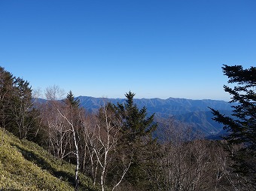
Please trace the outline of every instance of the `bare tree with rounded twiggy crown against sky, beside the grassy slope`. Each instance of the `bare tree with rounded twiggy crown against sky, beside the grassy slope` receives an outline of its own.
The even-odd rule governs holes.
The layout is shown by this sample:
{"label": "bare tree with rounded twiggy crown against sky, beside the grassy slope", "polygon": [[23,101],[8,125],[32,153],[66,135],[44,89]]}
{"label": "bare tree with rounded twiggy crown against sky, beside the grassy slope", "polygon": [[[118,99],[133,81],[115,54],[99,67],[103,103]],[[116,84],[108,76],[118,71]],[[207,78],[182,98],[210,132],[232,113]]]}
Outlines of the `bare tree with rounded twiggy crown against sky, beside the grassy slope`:
{"label": "bare tree with rounded twiggy crown against sky, beside the grassy slope", "polygon": [[[48,102],[44,112],[44,123],[47,125],[48,145],[55,156],[63,159],[71,153],[75,155],[75,190],[78,190],[78,126],[80,123],[78,116],[81,110],[78,105],[73,105],[71,100],[66,99],[63,102],[62,95],[63,91],[58,86],[46,89],[45,96]],[[74,146],[74,150],[68,150],[68,146],[69,148]]]}

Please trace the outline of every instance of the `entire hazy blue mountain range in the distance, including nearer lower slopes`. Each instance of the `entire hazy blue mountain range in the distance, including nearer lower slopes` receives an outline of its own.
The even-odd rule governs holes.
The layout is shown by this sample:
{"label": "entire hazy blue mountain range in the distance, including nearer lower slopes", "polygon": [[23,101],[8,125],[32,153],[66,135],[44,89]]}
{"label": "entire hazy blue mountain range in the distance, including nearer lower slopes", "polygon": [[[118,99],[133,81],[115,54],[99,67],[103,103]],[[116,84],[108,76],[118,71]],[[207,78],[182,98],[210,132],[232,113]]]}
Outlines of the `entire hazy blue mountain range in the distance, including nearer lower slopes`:
{"label": "entire hazy blue mountain range in the distance, including nearer lower slopes", "polygon": [[[126,99],[106,99],[79,96],[81,106],[87,111],[96,112],[106,102],[123,104]],[[148,115],[155,114],[156,118],[174,117],[183,123],[190,124],[194,129],[206,136],[216,137],[224,133],[223,126],[212,120],[212,113],[209,108],[215,108],[222,114],[230,115],[232,108],[230,103],[218,100],[203,99],[134,99],[138,108],[145,106]],[[208,108],[209,107],[209,108]]]}

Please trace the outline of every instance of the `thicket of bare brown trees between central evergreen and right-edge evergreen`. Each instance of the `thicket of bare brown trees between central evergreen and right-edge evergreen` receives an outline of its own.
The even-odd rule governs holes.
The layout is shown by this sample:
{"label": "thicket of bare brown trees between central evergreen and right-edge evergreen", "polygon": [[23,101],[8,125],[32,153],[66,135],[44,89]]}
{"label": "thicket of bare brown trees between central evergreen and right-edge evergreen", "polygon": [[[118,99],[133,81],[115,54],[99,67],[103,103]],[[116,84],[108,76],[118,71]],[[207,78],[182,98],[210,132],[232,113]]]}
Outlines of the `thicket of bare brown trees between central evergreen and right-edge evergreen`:
{"label": "thicket of bare brown trees between central evergreen and right-edge evergreen", "polygon": [[254,190],[247,180],[233,173],[229,153],[238,148],[225,141],[205,140],[173,118],[161,121],[162,154],[154,183],[158,190]]}

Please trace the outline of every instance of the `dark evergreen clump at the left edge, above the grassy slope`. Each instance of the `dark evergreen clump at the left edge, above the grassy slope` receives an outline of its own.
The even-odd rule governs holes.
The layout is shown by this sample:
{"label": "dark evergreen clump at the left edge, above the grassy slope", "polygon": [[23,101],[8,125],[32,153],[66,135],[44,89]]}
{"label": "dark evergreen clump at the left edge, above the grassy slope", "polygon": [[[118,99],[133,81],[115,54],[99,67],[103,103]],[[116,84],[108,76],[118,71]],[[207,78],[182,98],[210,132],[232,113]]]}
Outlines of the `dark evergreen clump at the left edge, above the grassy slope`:
{"label": "dark evergreen clump at the left edge, above the grassy slope", "polygon": [[20,138],[35,138],[38,111],[32,102],[32,88],[21,77],[0,67],[0,121],[2,127]]}

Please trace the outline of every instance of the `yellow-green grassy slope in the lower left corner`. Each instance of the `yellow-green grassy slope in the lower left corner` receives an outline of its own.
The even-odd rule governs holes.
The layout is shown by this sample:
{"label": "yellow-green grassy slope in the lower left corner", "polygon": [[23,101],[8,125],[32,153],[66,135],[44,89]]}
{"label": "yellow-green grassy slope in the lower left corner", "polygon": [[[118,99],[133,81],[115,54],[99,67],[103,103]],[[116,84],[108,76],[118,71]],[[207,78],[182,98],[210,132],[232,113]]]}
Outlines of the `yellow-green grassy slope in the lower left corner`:
{"label": "yellow-green grassy slope in the lower left corner", "polygon": [[[0,190],[74,190],[75,166],[0,128]],[[93,190],[80,174],[81,190]]]}

